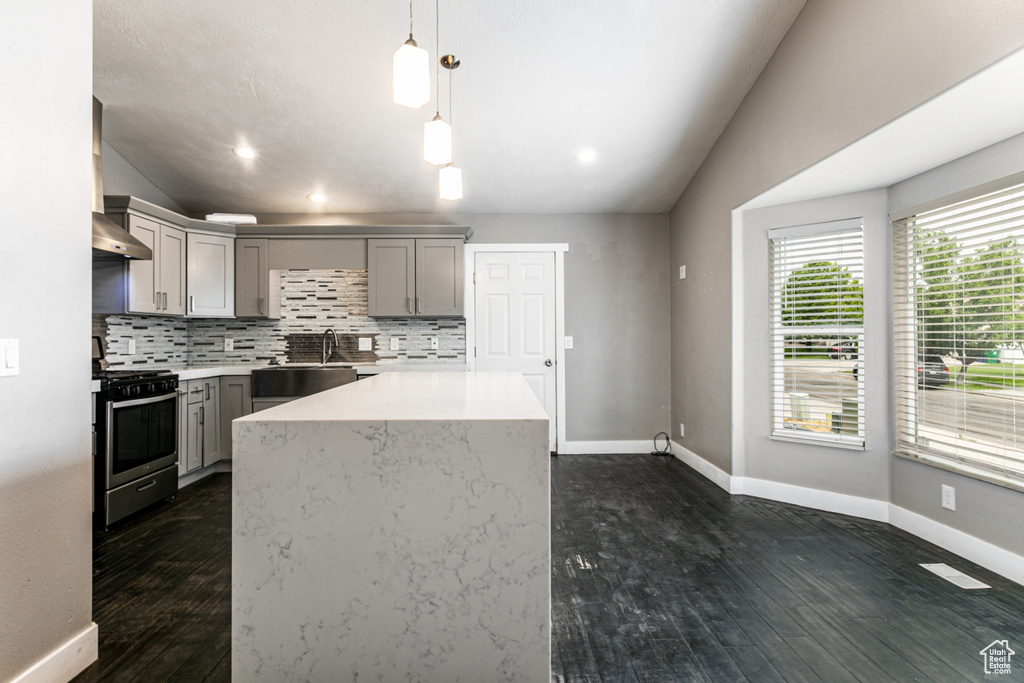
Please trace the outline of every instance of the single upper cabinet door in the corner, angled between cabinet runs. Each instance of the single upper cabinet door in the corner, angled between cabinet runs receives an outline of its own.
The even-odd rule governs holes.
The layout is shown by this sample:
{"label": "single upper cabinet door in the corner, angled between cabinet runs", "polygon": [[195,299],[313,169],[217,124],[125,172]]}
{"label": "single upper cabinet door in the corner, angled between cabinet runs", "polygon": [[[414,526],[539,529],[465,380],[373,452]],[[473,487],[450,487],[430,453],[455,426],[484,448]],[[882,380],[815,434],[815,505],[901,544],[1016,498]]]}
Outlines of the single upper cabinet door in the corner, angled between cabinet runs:
{"label": "single upper cabinet door in the corner, angled between cabinet runs", "polygon": [[186,259],[190,316],[234,315],[234,238],[189,232]]}

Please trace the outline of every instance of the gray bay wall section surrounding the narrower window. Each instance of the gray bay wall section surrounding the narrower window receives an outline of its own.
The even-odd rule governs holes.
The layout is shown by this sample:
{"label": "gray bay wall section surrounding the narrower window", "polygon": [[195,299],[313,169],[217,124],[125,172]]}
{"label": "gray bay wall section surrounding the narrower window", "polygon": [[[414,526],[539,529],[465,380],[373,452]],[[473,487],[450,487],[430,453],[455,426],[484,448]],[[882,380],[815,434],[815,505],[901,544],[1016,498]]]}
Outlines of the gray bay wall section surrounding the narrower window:
{"label": "gray bay wall section surrounding the narrower window", "polygon": [[[845,218],[864,226],[863,451],[770,438],[771,292],[768,230]],[[737,474],[848,496],[889,500],[892,451],[892,233],[886,190],[748,211],[743,215],[742,466]],[[739,460],[737,458],[737,460]]]}

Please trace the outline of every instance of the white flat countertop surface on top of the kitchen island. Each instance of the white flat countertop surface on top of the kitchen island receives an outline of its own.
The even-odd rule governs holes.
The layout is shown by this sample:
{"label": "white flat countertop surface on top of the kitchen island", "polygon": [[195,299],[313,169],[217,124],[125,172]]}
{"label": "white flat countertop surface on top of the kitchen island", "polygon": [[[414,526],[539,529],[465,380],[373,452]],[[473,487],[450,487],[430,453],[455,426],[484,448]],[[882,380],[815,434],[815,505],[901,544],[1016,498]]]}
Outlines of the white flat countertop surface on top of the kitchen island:
{"label": "white flat countertop surface on top of the kitchen island", "polygon": [[305,396],[243,422],[547,420],[519,373],[386,373]]}

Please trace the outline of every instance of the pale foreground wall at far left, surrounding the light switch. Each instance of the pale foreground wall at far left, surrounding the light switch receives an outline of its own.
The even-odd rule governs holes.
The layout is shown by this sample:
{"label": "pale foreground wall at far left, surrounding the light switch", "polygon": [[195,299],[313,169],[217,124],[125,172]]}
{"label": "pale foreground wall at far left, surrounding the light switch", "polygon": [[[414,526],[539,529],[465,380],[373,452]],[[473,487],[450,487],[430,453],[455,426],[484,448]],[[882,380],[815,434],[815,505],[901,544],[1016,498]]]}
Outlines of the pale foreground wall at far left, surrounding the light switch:
{"label": "pale foreground wall at far left, surrounding the light switch", "polygon": [[[89,404],[92,2],[0,20],[0,680],[92,622]],[[45,247],[45,255],[42,253]]]}

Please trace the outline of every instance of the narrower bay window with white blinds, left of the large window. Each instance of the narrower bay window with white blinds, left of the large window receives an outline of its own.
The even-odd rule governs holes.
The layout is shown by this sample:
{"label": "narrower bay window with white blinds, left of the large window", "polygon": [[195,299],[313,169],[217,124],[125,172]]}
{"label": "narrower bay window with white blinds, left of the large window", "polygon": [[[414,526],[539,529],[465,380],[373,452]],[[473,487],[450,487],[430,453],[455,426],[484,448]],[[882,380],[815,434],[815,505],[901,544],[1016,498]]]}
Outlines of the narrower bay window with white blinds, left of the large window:
{"label": "narrower bay window with white blinds, left of the large window", "polygon": [[769,230],[772,436],[864,447],[860,219]]}

